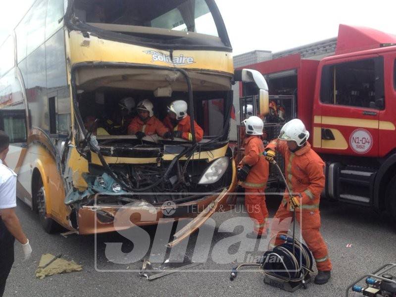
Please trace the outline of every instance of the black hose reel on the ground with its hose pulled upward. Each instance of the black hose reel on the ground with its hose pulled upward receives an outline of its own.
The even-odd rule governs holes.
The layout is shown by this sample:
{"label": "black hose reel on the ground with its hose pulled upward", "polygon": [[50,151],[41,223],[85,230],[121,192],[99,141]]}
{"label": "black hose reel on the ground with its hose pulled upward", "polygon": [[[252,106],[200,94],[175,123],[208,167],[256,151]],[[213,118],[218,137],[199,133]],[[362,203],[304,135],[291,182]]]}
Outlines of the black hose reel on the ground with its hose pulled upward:
{"label": "black hose reel on the ground with its hose pulled upward", "polygon": [[[266,155],[266,152],[263,153]],[[259,272],[264,274],[264,283],[283,289],[288,292],[294,292],[297,289],[304,287],[311,281],[310,273],[312,271],[313,258],[308,247],[295,238],[296,233],[296,208],[298,202],[293,199],[298,195],[292,195],[290,188],[286,182],[283,172],[275,160],[272,164],[278,169],[282,177],[286,189],[290,195],[291,204],[293,205],[293,234],[277,234],[270,240],[268,250],[264,253],[257,263],[242,263],[232,269],[230,280],[233,281],[238,274],[238,270],[247,266],[258,266]],[[282,241],[281,245],[273,247],[272,242]],[[268,260],[270,259],[270,260]]]}

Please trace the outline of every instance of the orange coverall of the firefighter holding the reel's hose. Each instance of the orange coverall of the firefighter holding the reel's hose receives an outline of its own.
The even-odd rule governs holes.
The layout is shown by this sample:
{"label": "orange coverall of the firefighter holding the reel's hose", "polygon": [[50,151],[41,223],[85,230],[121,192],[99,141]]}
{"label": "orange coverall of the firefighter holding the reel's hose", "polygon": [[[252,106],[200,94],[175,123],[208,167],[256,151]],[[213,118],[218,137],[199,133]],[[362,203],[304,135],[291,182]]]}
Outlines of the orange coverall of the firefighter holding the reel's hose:
{"label": "orange coverall of the firefighter holding the reel's hose", "polygon": [[[325,187],[323,173],[324,162],[311,145],[306,145],[296,152],[292,152],[285,141],[271,141],[267,148],[280,152],[285,158],[285,177],[292,193],[301,194],[300,206],[296,209],[296,218],[301,227],[302,238],[312,251],[316,267],[320,271],[330,271],[332,264],[327,251],[326,243],[320,234],[320,194]],[[283,221],[293,217],[293,208],[290,205],[290,196],[285,191],[281,205],[274,219]],[[300,221],[300,217],[302,221]],[[287,230],[280,231],[287,233]],[[280,244],[280,242],[276,242]]]}

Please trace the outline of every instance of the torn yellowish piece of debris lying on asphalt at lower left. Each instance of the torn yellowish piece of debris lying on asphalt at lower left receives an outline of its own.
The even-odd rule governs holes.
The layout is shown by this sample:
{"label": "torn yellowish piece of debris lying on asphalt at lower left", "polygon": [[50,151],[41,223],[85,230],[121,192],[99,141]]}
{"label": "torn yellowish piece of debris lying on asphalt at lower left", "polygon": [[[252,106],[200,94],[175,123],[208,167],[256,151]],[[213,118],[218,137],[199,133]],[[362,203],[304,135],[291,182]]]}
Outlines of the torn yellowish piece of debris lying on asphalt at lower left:
{"label": "torn yellowish piece of debris lying on asphalt at lower left", "polygon": [[83,266],[78,265],[74,261],[66,261],[62,258],[58,258],[47,267],[43,268],[47,263],[49,263],[55,256],[52,254],[43,254],[40,259],[39,268],[36,270],[36,277],[39,279],[44,279],[46,276],[69,273],[73,271],[83,270]]}

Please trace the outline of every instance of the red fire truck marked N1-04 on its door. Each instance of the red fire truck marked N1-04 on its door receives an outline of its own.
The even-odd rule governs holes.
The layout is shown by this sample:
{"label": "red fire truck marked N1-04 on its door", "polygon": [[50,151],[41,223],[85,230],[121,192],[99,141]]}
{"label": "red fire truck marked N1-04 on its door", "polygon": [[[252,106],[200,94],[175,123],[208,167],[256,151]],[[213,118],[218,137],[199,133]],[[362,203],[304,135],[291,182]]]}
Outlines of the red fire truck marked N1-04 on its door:
{"label": "red fire truck marked N1-04 on its door", "polygon": [[293,117],[305,123],[326,161],[323,196],[396,218],[396,36],[340,25],[334,55],[318,61],[292,54],[247,68],[268,82],[268,139]]}

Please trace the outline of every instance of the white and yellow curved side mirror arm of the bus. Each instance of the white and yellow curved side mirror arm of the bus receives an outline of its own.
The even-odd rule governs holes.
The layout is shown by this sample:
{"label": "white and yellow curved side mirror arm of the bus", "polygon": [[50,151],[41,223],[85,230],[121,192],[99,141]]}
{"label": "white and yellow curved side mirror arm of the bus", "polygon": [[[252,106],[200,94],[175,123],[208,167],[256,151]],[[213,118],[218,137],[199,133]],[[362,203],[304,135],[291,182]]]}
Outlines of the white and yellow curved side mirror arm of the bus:
{"label": "white and yellow curved side mirror arm of the bus", "polygon": [[259,108],[260,115],[267,115],[269,113],[269,95],[268,85],[264,76],[253,69],[235,70],[234,80],[243,83],[254,83],[259,89]]}

